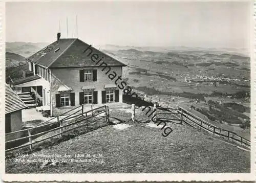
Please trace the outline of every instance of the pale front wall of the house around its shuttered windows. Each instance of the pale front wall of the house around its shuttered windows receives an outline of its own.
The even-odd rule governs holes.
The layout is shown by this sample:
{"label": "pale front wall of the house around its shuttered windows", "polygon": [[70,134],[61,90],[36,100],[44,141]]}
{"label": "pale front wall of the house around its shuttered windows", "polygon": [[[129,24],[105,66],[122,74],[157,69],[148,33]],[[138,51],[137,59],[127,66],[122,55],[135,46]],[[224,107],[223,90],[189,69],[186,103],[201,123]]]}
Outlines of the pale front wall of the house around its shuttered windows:
{"label": "pale front wall of the house around its shuttered windows", "polygon": [[[79,92],[82,92],[82,86],[94,86],[94,91],[98,91],[98,104],[101,104],[101,91],[105,90],[104,85],[105,84],[115,84],[115,80],[118,76],[122,75],[122,67],[121,66],[113,66],[111,67],[111,71],[106,75],[106,71],[108,69],[106,68],[104,71],[101,71],[103,67],[93,67],[94,70],[97,69],[97,81],[84,81],[80,82],[80,75],[79,71],[82,68],[61,68],[61,69],[51,69],[52,73],[52,115],[57,116],[62,112],[65,112],[67,109],[71,109],[74,107],[79,106]],[[90,69],[90,68],[89,68]],[[116,72],[117,76],[113,81],[108,77],[109,74],[112,72]],[[56,76],[58,79],[56,79],[54,76]],[[120,84],[120,80],[117,82]],[[67,85],[68,87],[71,87],[73,90],[71,93],[75,93],[75,106],[71,107],[58,107],[56,108],[56,99],[55,95],[59,94],[57,91],[60,85]],[[119,89],[118,87],[116,89]],[[119,89],[119,102],[122,102],[122,90]],[[90,104],[91,105],[91,104]],[[62,110],[63,109],[63,110]]]}

